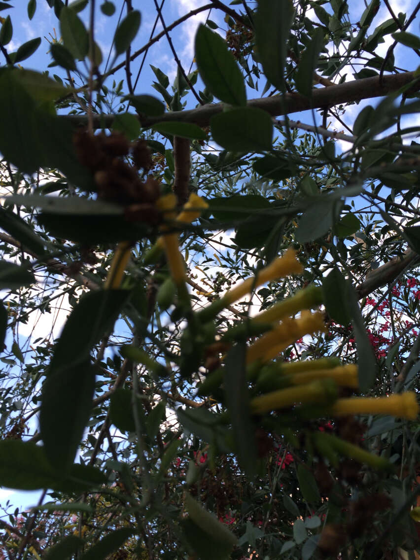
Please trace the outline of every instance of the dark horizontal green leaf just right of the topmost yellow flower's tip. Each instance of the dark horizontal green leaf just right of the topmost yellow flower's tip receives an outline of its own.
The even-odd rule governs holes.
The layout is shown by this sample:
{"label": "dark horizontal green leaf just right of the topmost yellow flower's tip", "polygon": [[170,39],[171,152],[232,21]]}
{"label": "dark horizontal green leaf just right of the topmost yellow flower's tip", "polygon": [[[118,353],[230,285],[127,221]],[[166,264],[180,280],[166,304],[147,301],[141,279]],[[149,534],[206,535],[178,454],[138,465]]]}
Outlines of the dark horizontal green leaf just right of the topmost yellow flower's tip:
{"label": "dark horizontal green leaf just right of the topmost yellow flower's tip", "polygon": [[242,222],[253,216],[258,210],[270,208],[267,198],[259,194],[234,195],[228,198],[211,198],[207,200],[209,210],[221,222]]}

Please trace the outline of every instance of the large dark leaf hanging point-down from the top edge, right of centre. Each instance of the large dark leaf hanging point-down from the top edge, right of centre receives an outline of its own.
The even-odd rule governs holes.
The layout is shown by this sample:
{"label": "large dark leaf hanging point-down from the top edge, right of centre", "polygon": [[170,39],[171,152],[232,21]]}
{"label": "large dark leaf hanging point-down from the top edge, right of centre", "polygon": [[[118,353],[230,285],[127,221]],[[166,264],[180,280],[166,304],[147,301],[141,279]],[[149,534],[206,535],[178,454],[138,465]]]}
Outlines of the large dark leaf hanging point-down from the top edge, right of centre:
{"label": "large dark leaf hanging point-down from the top edge, right of centre", "polygon": [[259,0],[255,17],[255,43],[264,74],[277,87],[284,89],[284,65],[287,41],[293,20],[291,0]]}

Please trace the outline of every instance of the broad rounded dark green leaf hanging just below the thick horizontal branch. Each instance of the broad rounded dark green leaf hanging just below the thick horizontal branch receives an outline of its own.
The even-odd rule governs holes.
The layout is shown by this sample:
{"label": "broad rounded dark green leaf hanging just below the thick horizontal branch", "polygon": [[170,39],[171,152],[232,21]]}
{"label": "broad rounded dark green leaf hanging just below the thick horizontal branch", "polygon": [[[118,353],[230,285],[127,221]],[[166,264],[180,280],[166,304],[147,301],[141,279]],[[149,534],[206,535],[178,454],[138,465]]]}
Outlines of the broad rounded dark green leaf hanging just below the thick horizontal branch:
{"label": "broad rounded dark green leaf hanging just below the thick horizontal branch", "polygon": [[264,152],[273,145],[273,122],[262,109],[232,109],[212,116],[210,126],[214,142],[232,152]]}

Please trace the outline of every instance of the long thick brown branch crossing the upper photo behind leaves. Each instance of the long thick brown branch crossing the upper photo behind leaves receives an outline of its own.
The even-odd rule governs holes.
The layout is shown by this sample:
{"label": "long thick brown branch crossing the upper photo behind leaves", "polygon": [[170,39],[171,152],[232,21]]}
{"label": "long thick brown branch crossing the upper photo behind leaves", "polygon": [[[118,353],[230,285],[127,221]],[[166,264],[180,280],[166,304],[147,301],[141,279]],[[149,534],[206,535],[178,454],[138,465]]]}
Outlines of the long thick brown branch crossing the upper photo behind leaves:
{"label": "long thick brown branch crossing the upper photo behind leaves", "polygon": [[[399,90],[400,87],[407,85],[415,79],[413,72],[403,72],[400,74],[390,74],[382,77],[380,83],[379,76],[353,80],[352,82],[340,83],[336,86],[318,87],[312,90],[312,98],[297,94],[274,95],[272,97],[259,97],[248,101],[249,107],[257,107],[267,111],[272,116],[298,113],[307,109],[319,109],[321,107],[332,107],[343,103],[361,101],[371,97],[380,97]],[[418,81],[414,86],[416,91],[419,89]],[[178,121],[184,123],[195,123],[200,127],[206,127],[213,115],[221,113],[223,104],[208,104],[190,109],[187,111],[173,111],[159,117],[148,117],[142,119],[143,127],[151,127],[157,122]],[[75,126],[86,126],[86,116],[66,115],[63,118],[70,120]],[[94,126],[96,128],[110,127],[115,115],[94,115]]]}

